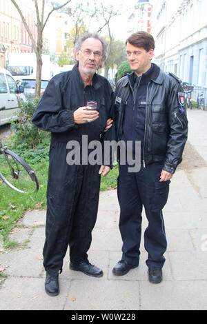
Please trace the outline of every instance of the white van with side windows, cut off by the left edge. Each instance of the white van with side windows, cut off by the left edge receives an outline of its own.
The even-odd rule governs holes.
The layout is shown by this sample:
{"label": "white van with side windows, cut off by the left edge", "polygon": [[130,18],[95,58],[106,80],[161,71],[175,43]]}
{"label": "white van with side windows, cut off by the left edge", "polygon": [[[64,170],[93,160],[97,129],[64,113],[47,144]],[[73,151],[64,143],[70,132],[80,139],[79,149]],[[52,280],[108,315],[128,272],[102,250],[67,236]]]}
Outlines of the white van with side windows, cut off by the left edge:
{"label": "white van with side windows, cut off by the left edge", "polygon": [[12,74],[0,67],[0,125],[17,120],[19,98],[26,101],[23,86],[17,86]]}

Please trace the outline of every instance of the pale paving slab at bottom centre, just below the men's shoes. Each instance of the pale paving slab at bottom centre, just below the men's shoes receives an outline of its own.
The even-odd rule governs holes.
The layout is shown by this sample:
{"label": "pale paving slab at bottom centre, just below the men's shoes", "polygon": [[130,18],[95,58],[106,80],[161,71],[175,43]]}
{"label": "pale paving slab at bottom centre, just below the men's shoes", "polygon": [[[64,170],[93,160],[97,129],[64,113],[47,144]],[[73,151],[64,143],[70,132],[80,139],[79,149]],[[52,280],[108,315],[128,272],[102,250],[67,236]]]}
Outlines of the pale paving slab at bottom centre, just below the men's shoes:
{"label": "pale paving slab at bottom centre, just below the men's shoes", "polygon": [[139,281],[74,280],[65,310],[139,310]]}

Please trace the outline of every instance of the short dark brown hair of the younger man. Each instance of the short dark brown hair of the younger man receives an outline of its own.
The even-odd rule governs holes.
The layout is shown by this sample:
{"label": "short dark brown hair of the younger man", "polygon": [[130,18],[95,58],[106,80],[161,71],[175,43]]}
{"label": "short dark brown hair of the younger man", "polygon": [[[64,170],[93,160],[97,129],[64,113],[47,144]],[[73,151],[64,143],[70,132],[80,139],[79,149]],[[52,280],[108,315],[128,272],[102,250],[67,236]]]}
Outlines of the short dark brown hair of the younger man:
{"label": "short dark brown hair of the younger man", "polygon": [[144,48],[146,52],[151,49],[155,49],[155,39],[148,32],[135,32],[131,34],[126,40],[126,44],[137,46],[137,48]]}

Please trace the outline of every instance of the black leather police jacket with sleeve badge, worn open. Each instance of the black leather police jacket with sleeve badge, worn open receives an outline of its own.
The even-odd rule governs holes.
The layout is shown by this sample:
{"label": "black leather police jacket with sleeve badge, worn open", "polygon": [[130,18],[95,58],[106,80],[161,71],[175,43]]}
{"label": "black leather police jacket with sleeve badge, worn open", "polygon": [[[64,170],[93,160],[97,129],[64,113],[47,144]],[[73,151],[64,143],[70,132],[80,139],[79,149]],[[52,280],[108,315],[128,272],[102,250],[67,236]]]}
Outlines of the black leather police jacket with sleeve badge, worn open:
{"label": "black leather police jacket with sleeve badge, worn open", "polygon": [[[125,106],[130,91],[132,74],[123,77],[115,90],[115,129],[121,140]],[[182,161],[188,136],[185,105],[180,105],[179,94],[184,90],[174,74],[160,70],[154,64],[146,94],[146,121],[144,132],[143,163],[163,162],[163,170],[174,173]]]}

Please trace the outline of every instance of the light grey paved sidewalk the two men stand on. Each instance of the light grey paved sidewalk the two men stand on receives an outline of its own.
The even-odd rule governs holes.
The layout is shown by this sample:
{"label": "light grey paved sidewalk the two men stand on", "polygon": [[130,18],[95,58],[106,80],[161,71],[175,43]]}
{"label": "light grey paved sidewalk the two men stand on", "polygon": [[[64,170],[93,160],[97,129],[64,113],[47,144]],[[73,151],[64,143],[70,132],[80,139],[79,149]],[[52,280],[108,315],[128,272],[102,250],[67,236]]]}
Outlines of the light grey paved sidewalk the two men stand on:
{"label": "light grey paved sidewalk the two men stand on", "polygon": [[59,275],[60,294],[48,296],[42,265],[46,211],[29,211],[19,221],[25,226],[10,234],[12,241],[28,241],[26,247],[0,254],[0,268],[7,276],[0,286],[0,310],[207,310],[207,112],[189,111],[188,120],[188,143],[193,156],[202,157],[195,168],[179,166],[170,184],[164,207],[164,280],[157,285],[148,281],[143,234],[139,267],[125,276],[112,274],[121,259],[121,236],[117,191],[110,190],[100,194],[88,252],[89,261],[103,269],[103,277],[69,270],[67,252]]}

